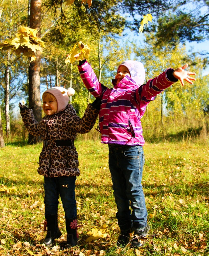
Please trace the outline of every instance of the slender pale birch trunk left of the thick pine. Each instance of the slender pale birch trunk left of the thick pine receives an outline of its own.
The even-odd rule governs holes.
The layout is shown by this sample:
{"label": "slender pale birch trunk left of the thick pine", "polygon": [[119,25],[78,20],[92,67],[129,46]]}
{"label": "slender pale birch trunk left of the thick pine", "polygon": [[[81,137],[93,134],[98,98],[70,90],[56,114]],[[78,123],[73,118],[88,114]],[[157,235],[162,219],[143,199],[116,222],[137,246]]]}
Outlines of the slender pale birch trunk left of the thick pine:
{"label": "slender pale birch trunk left of the thick pine", "polygon": [[6,116],[6,137],[10,135],[10,113],[9,113],[9,97],[10,97],[10,52],[7,52],[7,67],[5,70],[5,116]]}

